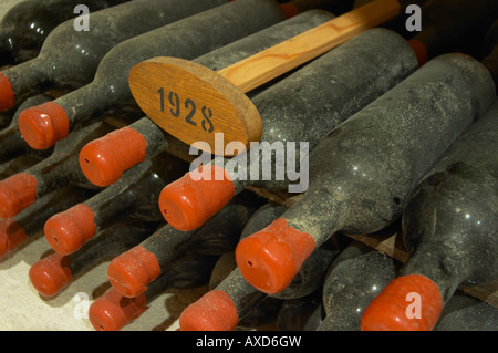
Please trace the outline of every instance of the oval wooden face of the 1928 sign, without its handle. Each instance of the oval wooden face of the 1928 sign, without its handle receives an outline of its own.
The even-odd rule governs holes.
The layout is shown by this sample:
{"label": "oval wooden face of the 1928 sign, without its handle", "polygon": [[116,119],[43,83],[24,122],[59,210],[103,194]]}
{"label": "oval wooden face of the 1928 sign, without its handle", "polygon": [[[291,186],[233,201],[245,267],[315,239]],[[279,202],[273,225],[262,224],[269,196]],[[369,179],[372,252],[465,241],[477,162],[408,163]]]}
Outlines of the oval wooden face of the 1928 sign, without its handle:
{"label": "oval wooden face of the 1928 sign, without its handle", "polygon": [[[188,145],[215,154],[215,134],[246,147],[261,138],[258,110],[247,95],[215,71],[177,58],[154,58],[129,72],[129,89],[144,113]],[[200,145],[196,142],[206,142]],[[224,153],[225,154],[225,153]]]}

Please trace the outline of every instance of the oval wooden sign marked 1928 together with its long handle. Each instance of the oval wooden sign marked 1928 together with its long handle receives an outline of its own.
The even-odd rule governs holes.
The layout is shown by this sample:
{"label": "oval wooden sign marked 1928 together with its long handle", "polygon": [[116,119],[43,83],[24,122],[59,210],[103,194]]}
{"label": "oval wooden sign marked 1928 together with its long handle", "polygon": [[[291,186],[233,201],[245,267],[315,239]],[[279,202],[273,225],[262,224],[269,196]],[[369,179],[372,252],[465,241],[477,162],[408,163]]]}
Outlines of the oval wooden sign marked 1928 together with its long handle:
{"label": "oval wooden sign marked 1928 together with its long handle", "polygon": [[[245,93],[400,11],[397,0],[375,0],[218,72],[187,60],[154,58],[132,68],[129,87],[144,113],[170,135],[205,152],[234,156],[262,134],[258,110]],[[224,136],[215,143],[217,133]],[[229,143],[242,147],[226,150]]]}

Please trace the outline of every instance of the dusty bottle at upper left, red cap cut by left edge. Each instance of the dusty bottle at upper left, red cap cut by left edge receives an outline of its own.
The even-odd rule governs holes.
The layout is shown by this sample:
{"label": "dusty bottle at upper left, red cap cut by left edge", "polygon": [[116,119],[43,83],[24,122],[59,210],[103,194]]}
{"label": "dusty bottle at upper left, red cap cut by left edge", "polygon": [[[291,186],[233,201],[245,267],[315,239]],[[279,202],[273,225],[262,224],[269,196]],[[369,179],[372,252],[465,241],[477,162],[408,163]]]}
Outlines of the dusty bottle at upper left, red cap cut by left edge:
{"label": "dusty bottle at upper left, red cap cut by left edge", "polygon": [[84,85],[116,44],[224,2],[134,0],[90,13],[89,31],[76,31],[73,21],[65,21],[50,33],[37,58],[0,73],[0,111],[49,87]]}

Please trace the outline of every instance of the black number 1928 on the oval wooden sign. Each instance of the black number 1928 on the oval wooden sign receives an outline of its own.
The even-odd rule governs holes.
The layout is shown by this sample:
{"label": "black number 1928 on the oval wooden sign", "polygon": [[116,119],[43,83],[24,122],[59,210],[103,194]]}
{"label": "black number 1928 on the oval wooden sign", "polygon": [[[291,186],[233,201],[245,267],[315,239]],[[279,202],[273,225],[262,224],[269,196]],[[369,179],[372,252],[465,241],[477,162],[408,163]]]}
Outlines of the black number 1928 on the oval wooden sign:
{"label": "black number 1928 on the oval wooden sign", "polygon": [[[157,90],[157,92],[159,93],[160,112],[164,113],[164,111],[166,110],[164,89],[160,87],[159,90]],[[169,101],[169,105],[170,105],[169,113],[172,113],[172,115],[174,117],[179,117],[180,116],[180,98],[179,98],[178,94],[176,94],[176,92],[173,92],[173,91],[169,92],[168,101]],[[185,100],[185,108],[188,111],[188,114],[185,116],[185,122],[193,126],[197,126],[197,123],[194,121],[194,116],[197,112],[196,103],[193,100],[187,98],[187,100]],[[212,131],[215,129],[215,127],[212,126],[212,122],[211,122],[212,111],[206,106],[203,106],[203,108],[200,111],[203,113],[203,121],[200,124],[203,129],[205,132],[212,133]]]}

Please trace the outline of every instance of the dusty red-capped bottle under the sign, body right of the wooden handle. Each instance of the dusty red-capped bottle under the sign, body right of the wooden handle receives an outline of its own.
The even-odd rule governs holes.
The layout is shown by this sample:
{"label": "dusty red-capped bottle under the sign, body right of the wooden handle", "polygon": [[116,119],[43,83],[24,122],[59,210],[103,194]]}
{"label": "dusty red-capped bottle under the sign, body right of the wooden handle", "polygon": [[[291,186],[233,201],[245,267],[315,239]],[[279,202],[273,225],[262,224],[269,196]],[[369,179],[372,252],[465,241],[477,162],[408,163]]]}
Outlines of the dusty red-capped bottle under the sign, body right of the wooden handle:
{"label": "dusty red-capped bottle under the sign, body right of the wooden handle", "polygon": [[[415,53],[401,35],[373,29],[298,70],[252,100],[263,122],[263,144],[230,159],[218,157],[167,185],[159,198],[165,219],[177,229],[195,229],[247,186],[289,188],[289,177],[295,177],[294,180],[300,177],[298,169],[294,176],[288,173],[286,177],[282,175],[286,165],[277,165],[277,160],[284,164],[287,158],[294,158],[295,165],[300,165],[301,154],[305,156],[305,149],[313,149],[325,132],[416,68]],[[302,152],[291,145],[294,146],[291,152],[286,150],[283,142],[307,142],[307,145],[299,147]],[[268,144],[272,144],[272,149],[278,147],[279,158],[273,150],[263,149]],[[307,166],[301,166],[302,169]],[[303,191],[307,183],[301,179],[289,191]]]}

